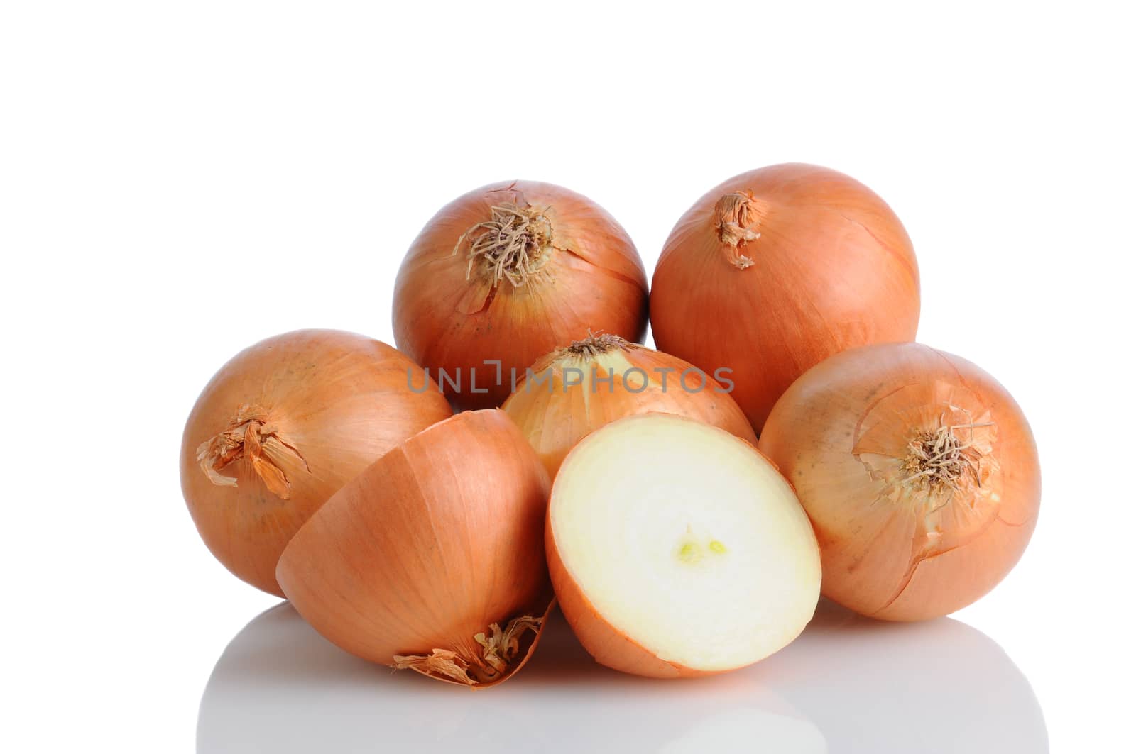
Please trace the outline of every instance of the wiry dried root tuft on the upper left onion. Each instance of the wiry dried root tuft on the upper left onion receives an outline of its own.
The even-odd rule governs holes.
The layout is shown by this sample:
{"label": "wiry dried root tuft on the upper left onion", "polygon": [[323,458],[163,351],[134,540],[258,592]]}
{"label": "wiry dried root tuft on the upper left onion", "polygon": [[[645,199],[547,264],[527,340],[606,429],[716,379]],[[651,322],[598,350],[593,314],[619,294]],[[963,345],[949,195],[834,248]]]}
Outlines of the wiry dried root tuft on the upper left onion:
{"label": "wiry dried root tuft on the upper left onion", "polygon": [[466,279],[475,269],[494,287],[502,280],[520,287],[541,279],[554,250],[546,211],[518,204],[492,207],[491,219],[462,233],[453,246],[453,254],[467,250]]}

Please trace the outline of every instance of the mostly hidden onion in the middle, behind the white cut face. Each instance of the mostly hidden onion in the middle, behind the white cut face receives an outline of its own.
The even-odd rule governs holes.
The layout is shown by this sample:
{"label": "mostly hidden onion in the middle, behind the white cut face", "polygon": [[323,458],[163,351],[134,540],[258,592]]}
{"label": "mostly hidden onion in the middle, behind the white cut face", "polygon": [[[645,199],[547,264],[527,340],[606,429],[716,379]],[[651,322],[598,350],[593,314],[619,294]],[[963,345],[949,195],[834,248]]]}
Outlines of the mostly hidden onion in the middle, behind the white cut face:
{"label": "mostly hidden onion in the middle, behind the white cut face", "polygon": [[712,376],[618,335],[588,335],[548,354],[502,409],[552,477],[585,435],[636,413],[677,413],[758,442],[727,387]]}

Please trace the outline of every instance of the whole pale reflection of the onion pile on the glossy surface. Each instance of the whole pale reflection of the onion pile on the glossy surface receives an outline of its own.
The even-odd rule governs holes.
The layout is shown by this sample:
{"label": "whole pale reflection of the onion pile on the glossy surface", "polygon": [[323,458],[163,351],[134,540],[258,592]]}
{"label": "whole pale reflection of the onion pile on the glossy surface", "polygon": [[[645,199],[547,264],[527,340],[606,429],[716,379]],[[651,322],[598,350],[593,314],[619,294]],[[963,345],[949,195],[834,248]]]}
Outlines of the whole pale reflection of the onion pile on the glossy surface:
{"label": "whole pale reflection of the onion pile on the glossy surface", "polygon": [[882,623],[821,603],[752,668],[658,681],[596,665],[556,615],[532,662],[470,692],[358,660],[282,604],[225,650],[198,751],[1046,752],[1029,682],[951,619]]}

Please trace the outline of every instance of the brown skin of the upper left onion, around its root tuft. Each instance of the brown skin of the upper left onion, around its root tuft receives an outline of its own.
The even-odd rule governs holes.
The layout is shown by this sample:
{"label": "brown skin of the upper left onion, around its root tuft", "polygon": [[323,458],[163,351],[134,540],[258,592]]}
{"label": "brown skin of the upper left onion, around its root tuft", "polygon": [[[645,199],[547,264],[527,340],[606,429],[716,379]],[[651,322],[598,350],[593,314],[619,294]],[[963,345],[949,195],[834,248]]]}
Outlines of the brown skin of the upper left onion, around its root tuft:
{"label": "brown skin of the upper left onion, around its root tuft", "polygon": [[[494,207],[535,213],[535,234],[551,228],[549,243],[537,244],[544,251],[531,254],[538,257],[540,269],[523,275],[525,283],[515,285],[516,276],[496,279],[483,257],[468,258]],[[394,338],[454,405],[491,408],[511,392],[512,370],[524,376],[538,358],[590,330],[642,341],[646,308],[643,262],[615,218],[553,184],[502,182],[446,204],[411,244],[394,286]],[[498,368],[486,360],[501,361],[500,384]],[[438,369],[451,378],[461,375],[460,392]]]}

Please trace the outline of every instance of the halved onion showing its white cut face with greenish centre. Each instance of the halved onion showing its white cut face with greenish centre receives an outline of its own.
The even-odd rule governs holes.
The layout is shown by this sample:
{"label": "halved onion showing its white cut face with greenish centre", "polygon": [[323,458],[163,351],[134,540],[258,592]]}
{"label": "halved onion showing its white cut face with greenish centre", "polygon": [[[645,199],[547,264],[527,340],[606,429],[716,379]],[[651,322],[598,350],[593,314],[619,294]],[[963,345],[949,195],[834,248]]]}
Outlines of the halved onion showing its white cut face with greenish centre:
{"label": "halved onion showing its white cut face with greenish centre", "polygon": [[757,662],[801,632],[820,593],[812,528],[777,469],[675,416],[621,419],[568,454],[545,547],[580,643],[640,676]]}

